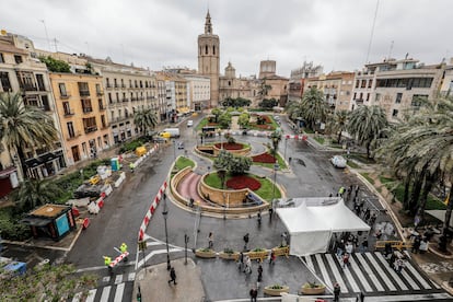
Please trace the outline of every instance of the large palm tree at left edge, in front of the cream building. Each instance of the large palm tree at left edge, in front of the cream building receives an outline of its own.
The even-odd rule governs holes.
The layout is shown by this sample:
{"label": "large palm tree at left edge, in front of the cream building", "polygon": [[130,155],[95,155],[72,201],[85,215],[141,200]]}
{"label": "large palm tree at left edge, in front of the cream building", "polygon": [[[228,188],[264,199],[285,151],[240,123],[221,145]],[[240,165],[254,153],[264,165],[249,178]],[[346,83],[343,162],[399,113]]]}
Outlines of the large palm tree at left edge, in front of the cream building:
{"label": "large palm tree at left edge, in front of the cream building", "polygon": [[10,155],[18,154],[24,175],[25,150],[47,149],[57,140],[57,129],[50,116],[37,107],[25,106],[20,93],[0,95],[0,140]]}

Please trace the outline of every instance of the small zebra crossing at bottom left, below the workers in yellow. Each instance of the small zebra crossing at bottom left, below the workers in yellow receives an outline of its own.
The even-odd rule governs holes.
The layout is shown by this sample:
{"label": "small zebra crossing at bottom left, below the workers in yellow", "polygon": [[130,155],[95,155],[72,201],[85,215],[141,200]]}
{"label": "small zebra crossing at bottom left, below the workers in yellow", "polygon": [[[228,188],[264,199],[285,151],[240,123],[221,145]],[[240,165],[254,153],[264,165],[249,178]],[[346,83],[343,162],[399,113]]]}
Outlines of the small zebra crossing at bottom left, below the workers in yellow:
{"label": "small zebra crossing at bottom left, below the workers in yellow", "polygon": [[[82,293],[78,292],[72,302],[123,302],[130,301],[133,290],[136,272],[104,276],[98,281],[98,288],[91,289],[85,300],[81,299]],[[129,294],[128,294],[129,293]]]}

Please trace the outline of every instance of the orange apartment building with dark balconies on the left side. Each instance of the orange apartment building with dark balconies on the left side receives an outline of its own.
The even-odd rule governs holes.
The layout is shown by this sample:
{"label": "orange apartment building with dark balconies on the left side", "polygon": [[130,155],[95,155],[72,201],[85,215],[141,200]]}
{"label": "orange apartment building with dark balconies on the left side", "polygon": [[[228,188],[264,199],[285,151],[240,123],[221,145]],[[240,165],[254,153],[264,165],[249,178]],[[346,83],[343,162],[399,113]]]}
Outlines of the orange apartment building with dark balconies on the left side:
{"label": "orange apartment building with dark balconies on the left side", "polygon": [[50,73],[68,165],[96,158],[112,146],[100,76]]}

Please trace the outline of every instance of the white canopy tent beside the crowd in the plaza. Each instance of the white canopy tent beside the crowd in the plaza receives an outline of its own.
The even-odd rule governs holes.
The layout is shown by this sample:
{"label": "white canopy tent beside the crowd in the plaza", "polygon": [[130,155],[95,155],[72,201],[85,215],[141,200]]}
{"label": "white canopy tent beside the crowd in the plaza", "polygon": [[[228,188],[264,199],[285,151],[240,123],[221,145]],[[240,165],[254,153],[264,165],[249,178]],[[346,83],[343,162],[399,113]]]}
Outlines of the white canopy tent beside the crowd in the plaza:
{"label": "white canopy tent beside the crowd in the plaza", "polygon": [[349,210],[342,199],[332,199],[313,202],[313,198],[306,198],[299,207],[277,209],[291,235],[291,255],[326,253],[333,233],[370,231],[370,225]]}

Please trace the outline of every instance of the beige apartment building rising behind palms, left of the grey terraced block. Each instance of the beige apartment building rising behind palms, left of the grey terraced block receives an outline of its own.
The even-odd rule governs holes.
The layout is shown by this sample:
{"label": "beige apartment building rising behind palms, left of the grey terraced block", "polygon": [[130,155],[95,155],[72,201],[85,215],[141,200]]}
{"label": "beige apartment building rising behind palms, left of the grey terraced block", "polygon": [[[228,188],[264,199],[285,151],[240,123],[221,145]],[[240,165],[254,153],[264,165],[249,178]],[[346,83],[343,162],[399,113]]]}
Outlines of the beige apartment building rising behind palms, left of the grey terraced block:
{"label": "beige apartment building rising behind palms, left of the grey terraced block", "polygon": [[324,97],[333,112],[348,111],[353,86],[353,72],[333,71],[314,78],[304,79],[304,91],[316,88],[324,93]]}

